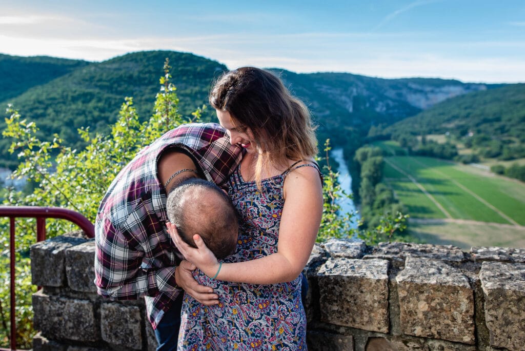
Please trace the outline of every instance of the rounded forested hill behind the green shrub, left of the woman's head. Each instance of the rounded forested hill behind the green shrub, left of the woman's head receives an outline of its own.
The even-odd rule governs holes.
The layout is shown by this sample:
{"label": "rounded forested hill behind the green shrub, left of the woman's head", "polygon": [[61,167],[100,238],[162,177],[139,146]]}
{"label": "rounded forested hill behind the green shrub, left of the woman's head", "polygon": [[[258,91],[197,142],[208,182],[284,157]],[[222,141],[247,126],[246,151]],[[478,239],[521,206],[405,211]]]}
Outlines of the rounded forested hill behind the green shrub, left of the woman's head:
{"label": "rounded forested hill behind the green shrub, left of the woman's head", "polygon": [[[216,61],[175,51],[145,51],[91,63],[45,85],[31,87],[17,97],[0,101],[0,106],[14,104],[24,118],[36,121],[44,138],[57,132],[67,144],[80,147],[82,141],[77,129],[89,126],[91,130],[107,131],[108,125],[117,120],[125,97],[133,97],[142,120],[151,116],[166,57],[172,66],[180,110],[190,116],[198,106],[206,103],[213,77],[226,67]],[[3,118],[0,128],[4,128]],[[16,160],[7,154],[8,144],[8,140],[0,140],[3,152],[0,159],[10,158],[12,162],[5,166],[12,167]]]}

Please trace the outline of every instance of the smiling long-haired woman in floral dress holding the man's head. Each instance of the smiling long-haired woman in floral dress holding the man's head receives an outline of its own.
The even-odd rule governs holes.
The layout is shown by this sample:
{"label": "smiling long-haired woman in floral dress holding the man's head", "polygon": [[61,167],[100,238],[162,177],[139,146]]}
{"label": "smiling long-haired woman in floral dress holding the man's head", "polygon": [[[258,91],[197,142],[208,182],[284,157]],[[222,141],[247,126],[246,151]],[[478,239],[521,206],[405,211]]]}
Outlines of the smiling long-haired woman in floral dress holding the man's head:
{"label": "smiling long-haired woman in floral dress holding the man's head", "polygon": [[186,295],[178,349],[306,349],[301,271],[321,222],[322,181],[308,109],[268,71],[224,74],[209,101],[230,143],[246,150],[229,179],[239,215],[236,253],[218,262],[169,232],[195,277],[218,295],[206,306]]}

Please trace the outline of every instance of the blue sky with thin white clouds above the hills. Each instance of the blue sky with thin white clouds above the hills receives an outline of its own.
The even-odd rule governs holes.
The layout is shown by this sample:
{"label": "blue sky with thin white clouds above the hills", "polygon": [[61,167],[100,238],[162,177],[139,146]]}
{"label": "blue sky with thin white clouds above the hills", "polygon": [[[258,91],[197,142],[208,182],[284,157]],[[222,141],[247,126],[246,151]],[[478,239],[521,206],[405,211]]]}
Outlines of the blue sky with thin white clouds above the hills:
{"label": "blue sky with thin white clouds above the hills", "polygon": [[228,68],[525,82],[524,0],[5,1],[0,53],[194,53]]}

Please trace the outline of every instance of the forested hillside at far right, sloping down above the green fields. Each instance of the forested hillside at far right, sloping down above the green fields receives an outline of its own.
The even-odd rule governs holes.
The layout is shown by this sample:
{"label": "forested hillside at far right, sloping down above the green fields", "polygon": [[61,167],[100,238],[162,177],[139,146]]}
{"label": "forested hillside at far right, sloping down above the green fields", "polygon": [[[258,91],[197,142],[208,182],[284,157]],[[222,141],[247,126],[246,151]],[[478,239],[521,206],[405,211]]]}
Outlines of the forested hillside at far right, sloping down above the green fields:
{"label": "forested hillside at far right, sloping down above the green fields", "polygon": [[482,157],[525,157],[525,84],[471,92],[445,100],[385,129],[403,134],[456,137]]}

